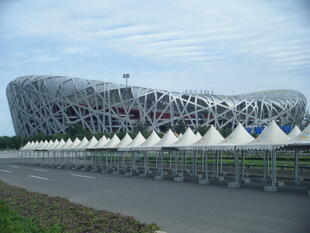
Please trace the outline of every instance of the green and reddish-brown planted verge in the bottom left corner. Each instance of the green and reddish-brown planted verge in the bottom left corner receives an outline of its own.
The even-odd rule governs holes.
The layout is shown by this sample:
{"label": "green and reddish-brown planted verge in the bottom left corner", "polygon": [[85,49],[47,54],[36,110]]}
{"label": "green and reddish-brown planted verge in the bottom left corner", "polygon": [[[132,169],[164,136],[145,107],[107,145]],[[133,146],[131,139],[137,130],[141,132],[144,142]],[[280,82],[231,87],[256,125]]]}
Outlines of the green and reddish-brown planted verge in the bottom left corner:
{"label": "green and reddish-brown planted verge in the bottom left corner", "polygon": [[0,181],[0,232],[154,232],[155,224],[29,192]]}

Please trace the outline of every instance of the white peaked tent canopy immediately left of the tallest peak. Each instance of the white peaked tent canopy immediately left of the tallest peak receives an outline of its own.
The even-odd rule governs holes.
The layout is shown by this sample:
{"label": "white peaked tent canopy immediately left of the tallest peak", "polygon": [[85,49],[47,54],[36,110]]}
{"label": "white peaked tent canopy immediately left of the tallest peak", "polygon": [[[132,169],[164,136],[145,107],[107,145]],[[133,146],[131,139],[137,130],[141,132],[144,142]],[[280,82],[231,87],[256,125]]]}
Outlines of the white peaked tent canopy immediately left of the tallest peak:
{"label": "white peaked tent canopy immediately left of the tallest peak", "polygon": [[209,146],[207,150],[233,150],[238,145],[244,145],[252,142],[254,137],[252,137],[248,131],[242,126],[241,123],[225,138],[222,142]]}

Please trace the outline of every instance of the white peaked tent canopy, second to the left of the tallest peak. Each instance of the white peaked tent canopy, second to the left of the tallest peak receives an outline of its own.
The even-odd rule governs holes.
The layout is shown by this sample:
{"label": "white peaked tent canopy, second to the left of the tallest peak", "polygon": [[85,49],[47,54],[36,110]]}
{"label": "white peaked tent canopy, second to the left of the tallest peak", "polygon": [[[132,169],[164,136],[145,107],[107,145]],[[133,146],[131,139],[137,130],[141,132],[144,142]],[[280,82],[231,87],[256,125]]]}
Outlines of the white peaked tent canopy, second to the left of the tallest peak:
{"label": "white peaked tent canopy, second to the left of the tallest peak", "polygon": [[203,137],[196,143],[187,146],[186,149],[202,149],[206,146],[216,145],[224,140],[224,137],[220,132],[213,126],[203,135]]}

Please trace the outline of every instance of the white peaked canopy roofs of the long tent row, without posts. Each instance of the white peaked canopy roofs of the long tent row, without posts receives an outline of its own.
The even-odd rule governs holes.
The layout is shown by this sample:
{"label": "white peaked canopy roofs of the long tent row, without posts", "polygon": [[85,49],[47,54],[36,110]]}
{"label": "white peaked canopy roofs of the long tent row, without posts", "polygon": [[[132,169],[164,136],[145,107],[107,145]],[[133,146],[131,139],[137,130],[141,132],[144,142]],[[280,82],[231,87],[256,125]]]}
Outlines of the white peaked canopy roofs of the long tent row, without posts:
{"label": "white peaked canopy roofs of the long tent row, without posts", "polygon": [[169,129],[160,138],[155,131],[145,139],[139,132],[132,139],[126,133],[120,140],[116,134],[109,139],[103,136],[99,141],[92,137],[91,140],[76,138],[74,141],[68,139],[66,142],[41,141],[28,142],[21,151],[85,151],[85,150],[118,150],[118,151],[159,151],[159,150],[272,150],[289,145],[310,145],[310,124],[301,132],[298,126],[287,135],[275,121],[272,121],[263,132],[254,138],[239,123],[232,133],[224,138],[220,132],[211,126],[209,130],[201,136],[187,128],[184,135],[178,137]]}

